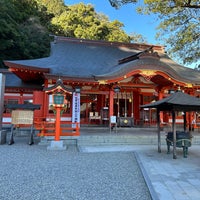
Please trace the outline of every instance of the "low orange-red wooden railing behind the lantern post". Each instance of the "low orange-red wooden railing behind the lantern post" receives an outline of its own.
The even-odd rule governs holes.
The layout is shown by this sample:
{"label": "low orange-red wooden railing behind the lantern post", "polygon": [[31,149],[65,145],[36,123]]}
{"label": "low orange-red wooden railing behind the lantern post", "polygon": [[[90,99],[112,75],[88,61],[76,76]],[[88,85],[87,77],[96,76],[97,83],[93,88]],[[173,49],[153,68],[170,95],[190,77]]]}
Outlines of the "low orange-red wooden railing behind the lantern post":
{"label": "low orange-red wooden railing behind the lantern post", "polygon": [[[44,121],[42,119],[34,120],[34,127],[39,130],[38,136],[55,136],[55,121]],[[61,121],[60,136],[79,136],[80,123],[63,122]]]}

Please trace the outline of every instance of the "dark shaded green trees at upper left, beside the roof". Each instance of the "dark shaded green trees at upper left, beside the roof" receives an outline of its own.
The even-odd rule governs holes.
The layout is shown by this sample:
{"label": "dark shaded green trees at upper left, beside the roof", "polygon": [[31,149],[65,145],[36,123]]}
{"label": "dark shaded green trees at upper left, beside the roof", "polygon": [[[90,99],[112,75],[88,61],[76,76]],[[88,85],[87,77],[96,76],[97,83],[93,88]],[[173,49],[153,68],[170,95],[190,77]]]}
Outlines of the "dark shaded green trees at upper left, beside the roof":
{"label": "dark shaded green trees at upper left, beside the roof", "polygon": [[32,0],[0,0],[0,60],[30,59],[49,53],[48,31]]}

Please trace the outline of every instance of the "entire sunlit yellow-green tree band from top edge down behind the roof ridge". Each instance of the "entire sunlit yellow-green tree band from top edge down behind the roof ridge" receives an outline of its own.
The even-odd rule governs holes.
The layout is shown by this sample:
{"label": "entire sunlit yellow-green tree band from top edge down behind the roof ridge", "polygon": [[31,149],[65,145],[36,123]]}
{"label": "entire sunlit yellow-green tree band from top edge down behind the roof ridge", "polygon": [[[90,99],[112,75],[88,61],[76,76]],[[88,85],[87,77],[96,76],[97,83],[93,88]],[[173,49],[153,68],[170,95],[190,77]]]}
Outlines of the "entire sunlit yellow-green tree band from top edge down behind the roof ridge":
{"label": "entire sunlit yellow-green tree band from top edge down behind the roof ridge", "polygon": [[94,7],[83,3],[67,6],[63,0],[37,0],[40,10],[53,15],[48,30],[55,35],[118,42],[144,41],[141,35],[128,36],[123,23],[96,13]]}

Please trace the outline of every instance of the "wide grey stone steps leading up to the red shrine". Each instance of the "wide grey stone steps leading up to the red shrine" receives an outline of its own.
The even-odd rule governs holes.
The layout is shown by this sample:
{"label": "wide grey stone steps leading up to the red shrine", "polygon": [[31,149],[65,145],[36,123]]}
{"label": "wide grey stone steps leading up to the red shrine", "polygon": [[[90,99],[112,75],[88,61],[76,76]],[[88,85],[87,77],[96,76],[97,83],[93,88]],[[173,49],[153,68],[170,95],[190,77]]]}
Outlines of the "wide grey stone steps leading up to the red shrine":
{"label": "wide grey stone steps leading up to the red shrine", "polygon": [[[166,132],[161,131],[161,145],[166,145]],[[192,144],[200,144],[200,133],[192,133]],[[44,137],[40,144],[48,143],[54,137]],[[83,127],[80,136],[61,136],[66,145],[113,146],[113,145],[157,145],[156,128],[118,128],[110,131],[108,127]]]}

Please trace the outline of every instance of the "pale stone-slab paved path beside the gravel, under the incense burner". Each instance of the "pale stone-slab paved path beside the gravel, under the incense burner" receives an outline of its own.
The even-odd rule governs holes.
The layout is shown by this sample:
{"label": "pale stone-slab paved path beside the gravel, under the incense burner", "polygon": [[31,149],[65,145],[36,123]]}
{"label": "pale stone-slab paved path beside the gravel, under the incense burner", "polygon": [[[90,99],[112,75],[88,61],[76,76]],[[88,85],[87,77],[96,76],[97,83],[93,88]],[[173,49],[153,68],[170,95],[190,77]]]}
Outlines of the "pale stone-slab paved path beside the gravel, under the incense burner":
{"label": "pale stone-slab paved path beside the gravel, under the incense burner", "polygon": [[156,145],[82,147],[83,151],[135,151],[159,200],[200,200],[200,146],[189,148],[187,158],[177,149],[177,159],[167,154],[166,146]]}

